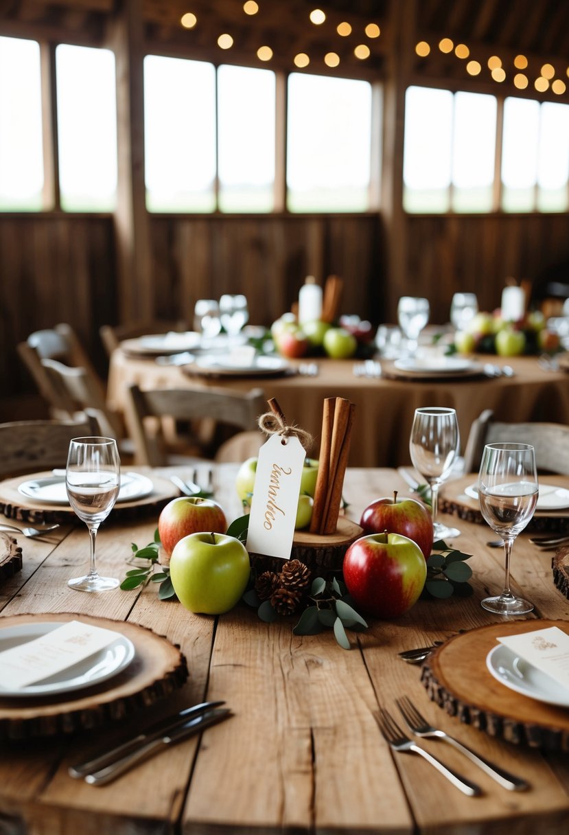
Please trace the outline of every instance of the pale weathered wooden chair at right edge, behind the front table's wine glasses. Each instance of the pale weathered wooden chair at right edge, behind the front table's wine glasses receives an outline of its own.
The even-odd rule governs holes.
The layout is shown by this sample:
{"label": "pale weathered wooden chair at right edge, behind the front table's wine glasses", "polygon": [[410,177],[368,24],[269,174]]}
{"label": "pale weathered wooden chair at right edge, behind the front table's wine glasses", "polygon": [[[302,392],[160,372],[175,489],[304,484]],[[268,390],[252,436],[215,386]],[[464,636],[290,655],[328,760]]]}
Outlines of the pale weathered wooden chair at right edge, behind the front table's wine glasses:
{"label": "pale weathered wooden chair at right edge, behind the front table's wine glasses", "polygon": [[486,409],[472,423],[465,448],[465,473],[480,468],[486,443],[531,443],[536,450],[537,469],[569,475],[569,427],[563,423],[499,423]]}

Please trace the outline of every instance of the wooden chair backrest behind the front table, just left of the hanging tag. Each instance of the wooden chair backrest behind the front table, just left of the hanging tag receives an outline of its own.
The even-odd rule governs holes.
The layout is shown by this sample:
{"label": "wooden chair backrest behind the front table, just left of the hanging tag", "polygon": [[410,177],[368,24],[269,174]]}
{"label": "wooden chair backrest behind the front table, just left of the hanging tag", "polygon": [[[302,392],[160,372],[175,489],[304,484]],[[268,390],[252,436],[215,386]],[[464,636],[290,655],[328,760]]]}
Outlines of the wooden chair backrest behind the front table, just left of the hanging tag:
{"label": "wooden chair backrest behind the front table, just left of the hanging tag", "polygon": [[196,421],[208,418],[216,423],[253,430],[257,418],[266,410],[262,389],[228,392],[223,388],[160,388],[142,391],[138,386],[126,390],[125,417],[134,444],[135,463],[153,467],[169,463],[160,420]]}

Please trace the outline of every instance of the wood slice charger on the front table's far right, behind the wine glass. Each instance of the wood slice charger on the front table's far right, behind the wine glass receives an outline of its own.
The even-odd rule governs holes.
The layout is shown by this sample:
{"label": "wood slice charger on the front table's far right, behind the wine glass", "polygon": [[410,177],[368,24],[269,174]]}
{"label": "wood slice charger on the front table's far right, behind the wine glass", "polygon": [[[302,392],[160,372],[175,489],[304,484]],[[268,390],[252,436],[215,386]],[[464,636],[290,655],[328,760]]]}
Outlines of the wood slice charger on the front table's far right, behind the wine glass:
{"label": "wood slice charger on the front table's far right, behind the wine glass", "polygon": [[[481,514],[477,498],[471,498],[464,492],[466,488],[476,484],[478,473],[462,476],[447,482],[441,489],[439,510],[443,514],[454,514],[467,522],[486,524]],[[569,478],[566,475],[544,475],[540,480],[556,487],[569,488]],[[551,534],[569,534],[569,508],[559,510],[536,510],[527,525],[526,531],[547,531]]]}

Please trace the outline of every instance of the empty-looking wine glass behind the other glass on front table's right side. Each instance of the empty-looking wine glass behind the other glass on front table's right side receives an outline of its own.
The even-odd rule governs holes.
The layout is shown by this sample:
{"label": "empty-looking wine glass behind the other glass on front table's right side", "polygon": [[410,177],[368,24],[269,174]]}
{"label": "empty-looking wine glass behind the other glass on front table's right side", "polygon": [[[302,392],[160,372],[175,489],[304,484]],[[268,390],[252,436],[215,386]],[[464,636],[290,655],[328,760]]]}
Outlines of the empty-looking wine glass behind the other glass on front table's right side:
{"label": "empty-looking wine glass behind the other glass on front table's right side", "polygon": [[460,530],[437,522],[439,488],[451,474],[461,443],[455,409],[415,409],[409,442],[411,461],[431,487],[431,512],[435,539],[460,536]]}

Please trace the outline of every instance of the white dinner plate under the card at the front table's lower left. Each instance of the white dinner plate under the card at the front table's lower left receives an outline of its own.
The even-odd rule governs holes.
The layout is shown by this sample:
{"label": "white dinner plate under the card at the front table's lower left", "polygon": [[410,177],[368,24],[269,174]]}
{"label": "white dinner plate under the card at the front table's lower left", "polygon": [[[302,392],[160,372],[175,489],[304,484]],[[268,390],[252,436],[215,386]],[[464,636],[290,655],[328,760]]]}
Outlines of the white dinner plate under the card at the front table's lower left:
{"label": "white dinner plate under the card at the front table's lower left", "polygon": [[[41,638],[42,635],[47,635],[58,626],[63,626],[63,622],[39,622],[0,628],[0,652],[25,644],[28,640]],[[3,696],[10,696],[10,698],[13,696],[56,696],[59,693],[68,693],[100,684],[123,671],[135,654],[133,642],[124,635],[117,635],[117,640],[114,640],[112,644],[78,661],[67,670],[58,672],[55,676],[49,676],[35,684],[21,687],[19,690],[8,691],[0,688],[0,698]]]}

